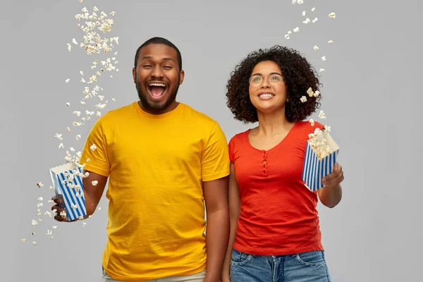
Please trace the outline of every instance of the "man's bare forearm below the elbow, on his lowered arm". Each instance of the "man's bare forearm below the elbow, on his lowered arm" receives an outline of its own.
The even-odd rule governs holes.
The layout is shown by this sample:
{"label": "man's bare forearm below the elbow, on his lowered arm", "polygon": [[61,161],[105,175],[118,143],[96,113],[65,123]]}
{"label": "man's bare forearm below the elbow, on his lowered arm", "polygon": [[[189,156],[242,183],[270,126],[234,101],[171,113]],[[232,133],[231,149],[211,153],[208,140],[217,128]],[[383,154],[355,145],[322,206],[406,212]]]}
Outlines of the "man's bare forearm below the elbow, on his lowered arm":
{"label": "man's bare forearm below the elbow, on his lowered arm", "polygon": [[207,271],[204,282],[219,282],[229,237],[228,209],[207,212]]}

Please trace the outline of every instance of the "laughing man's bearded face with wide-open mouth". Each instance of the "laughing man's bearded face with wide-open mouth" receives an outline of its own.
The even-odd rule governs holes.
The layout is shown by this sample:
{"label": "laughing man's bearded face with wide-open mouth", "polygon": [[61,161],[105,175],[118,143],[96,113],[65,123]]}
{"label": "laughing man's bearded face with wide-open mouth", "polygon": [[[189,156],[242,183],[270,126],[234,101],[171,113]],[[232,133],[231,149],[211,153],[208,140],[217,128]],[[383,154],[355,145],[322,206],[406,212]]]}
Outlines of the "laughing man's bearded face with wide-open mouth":
{"label": "laughing man's bearded face with wide-open mouth", "polygon": [[140,49],[133,78],[141,107],[150,114],[164,114],[176,108],[176,94],[184,72],[178,54],[165,44],[149,44]]}

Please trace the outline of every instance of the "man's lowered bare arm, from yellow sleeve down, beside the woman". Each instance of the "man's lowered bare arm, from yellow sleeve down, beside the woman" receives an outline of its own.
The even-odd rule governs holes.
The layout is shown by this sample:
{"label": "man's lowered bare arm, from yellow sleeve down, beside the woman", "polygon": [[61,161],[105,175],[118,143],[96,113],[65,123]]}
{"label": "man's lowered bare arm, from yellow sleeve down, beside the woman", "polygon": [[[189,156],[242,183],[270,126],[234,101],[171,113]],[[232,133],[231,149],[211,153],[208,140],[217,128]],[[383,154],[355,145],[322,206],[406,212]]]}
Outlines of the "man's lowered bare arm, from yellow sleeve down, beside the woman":
{"label": "man's lowered bare arm, from yellow sleeve down, beside the woman", "polygon": [[228,177],[203,181],[203,189],[207,213],[204,282],[219,282],[229,237]]}

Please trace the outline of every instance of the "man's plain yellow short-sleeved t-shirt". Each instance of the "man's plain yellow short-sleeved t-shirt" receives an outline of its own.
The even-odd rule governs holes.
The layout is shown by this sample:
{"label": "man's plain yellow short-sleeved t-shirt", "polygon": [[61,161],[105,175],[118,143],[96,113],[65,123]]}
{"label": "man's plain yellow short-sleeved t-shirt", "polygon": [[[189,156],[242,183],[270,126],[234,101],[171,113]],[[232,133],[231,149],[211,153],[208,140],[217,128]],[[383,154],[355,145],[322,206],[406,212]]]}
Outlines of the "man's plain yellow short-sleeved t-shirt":
{"label": "man's plain yellow short-sleeved t-shirt", "polygon": [[230,164],[216,121],[182,103],[152,115],[134,102],[99,118],[80,164],[109,176],[103,266],[111,278],[147,281],[205,269],[202,181],[228,176]]}

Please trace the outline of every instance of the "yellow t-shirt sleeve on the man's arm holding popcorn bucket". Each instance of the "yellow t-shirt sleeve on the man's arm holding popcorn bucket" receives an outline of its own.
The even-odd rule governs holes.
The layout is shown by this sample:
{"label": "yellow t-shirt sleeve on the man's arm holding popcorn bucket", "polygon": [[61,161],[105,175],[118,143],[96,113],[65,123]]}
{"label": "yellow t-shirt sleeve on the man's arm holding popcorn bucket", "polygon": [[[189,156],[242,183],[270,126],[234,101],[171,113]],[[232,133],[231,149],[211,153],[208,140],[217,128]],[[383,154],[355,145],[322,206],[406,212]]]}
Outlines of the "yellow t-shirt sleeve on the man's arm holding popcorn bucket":
{"label": "yellow t-shirt sleeve on the man's arm holding popcorn bucket", "polygon": [[81,165],[85,164],[86,171],[109,176],[110,164],[107,156],[106,137],[100,118],[90,130],[79,162]]}

